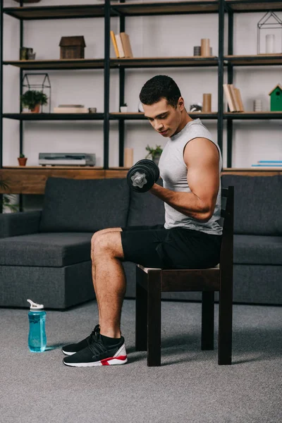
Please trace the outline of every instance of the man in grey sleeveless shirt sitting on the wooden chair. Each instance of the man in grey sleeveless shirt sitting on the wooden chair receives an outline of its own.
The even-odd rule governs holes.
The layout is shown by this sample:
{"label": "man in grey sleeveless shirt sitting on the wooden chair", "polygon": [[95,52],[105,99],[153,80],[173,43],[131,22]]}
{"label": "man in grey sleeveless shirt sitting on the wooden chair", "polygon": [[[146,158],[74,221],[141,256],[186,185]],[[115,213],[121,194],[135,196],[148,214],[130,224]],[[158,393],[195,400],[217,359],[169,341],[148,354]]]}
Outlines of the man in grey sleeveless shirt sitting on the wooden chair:
{"label": "man in grey sleeveless shirt sitting on the wooden chair", "polygon": [[222,228],[219,146],[200,119],[185,110],[171,78],[157,75],[140,92],[145,116],[168,142],[159,161],[164,187],[150,192],[164,201],[165,224],[106,228],[91,243],[99,324],[80,343],[66,345],[63,363],[74,367],[124,364],[121,308],[123,261],[162,269],[204,269],[219,263]]}

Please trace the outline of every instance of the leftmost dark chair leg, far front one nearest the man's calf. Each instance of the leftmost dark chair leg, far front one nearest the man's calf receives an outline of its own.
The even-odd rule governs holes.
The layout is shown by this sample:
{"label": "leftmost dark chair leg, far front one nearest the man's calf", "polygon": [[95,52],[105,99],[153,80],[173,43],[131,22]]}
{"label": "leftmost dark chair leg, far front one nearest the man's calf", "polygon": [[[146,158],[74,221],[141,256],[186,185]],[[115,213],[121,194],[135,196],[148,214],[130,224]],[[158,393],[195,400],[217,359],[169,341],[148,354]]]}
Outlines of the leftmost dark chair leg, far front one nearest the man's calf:
{"label": "leftmost dark chair leg, far front one nearest the man's calf", "polygon": [[147,290],[141,285],[147,274],[136,266],[135,349],[147,351]]}

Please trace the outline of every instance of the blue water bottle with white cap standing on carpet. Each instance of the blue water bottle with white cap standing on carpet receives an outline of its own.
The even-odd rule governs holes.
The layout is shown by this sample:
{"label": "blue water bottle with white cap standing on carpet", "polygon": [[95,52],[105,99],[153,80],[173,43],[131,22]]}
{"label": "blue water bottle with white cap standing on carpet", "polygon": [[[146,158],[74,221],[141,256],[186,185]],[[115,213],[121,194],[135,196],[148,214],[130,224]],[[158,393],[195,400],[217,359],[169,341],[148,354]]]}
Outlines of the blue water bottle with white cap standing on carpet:
{"label": "blue water bottle with white cap standing on carpet", "polygon": [[32,300],[30,303],[30,312],[28,319],[30,321],[30,333],[28,334],[28,348],[32,353],[43,353],[47,345],[45,332],[46,312],[43,304],[37,304]]}

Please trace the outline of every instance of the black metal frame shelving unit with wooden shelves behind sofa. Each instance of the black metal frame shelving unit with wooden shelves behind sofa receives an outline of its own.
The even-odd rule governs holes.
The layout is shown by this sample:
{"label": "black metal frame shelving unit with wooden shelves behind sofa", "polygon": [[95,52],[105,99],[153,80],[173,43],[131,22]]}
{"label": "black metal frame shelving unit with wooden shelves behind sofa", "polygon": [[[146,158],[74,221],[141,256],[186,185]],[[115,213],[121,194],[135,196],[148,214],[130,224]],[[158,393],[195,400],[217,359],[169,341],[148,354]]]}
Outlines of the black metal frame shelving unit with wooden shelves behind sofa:
{"label": "black metal frame shelving unit with wooden shelves behind sofa", "polygon": [[[21,4],[20,6],[23,6]],[[20,71],[20,81],[24,71],[38,70],[76,70],[76,69],[103,69],[104,70],[104,113],[99,114],[3,114],[2,91],[0,94],[0,177],[12,181],[11,192],[14,193],[38,193],[42,188],[38,184],[44,184],[46,178],[51,175],[68,175],[77,178],[105,178],[109,175],[125,177],[127,170],[123,167],[123,149],[125,121],[145,120],[144,114],[128,112],[127,114],[111,113],[109,110],[109,89],[111,69],[119,72],[119,104],[124,102],[125,70],[130,68],[177,68],[177,67],[216,67],[218,69],[218,110],[210,114],[190,114],[192,117],[201,119],[213,119],[217,121],[219,147],[222,150],[223,125],[227,125],[227,168],[224,172],[247,172],[251,175],[282,173],[282,169],[233,169],[232,168],[232,136],[233,121],[238,119],[281,119],[282,112],[245,112],[226,113],[223,111],[223,74],[228,71],[228,83],[233,82],[234,66],[281,66],[282,54],[265,54],[259,56],[234,56],[233,55],[233,15],[234,13],[259,12],[259,11],[282,11],[282,1],[270,0],[188,0],[166,1],[161,3],[146,2],[138,4],[136,1],[121,0],[121,3],[110,3],[105,0],[104,4],[94,5],[68,5],[68,6],[23,6],[4,8],[4,0],[0,0],[0,90],[3,85],[3,66],[15,66]],[[131,16],[164,16],[181,15],[190,13],[216,13],[219,16],[219,56],[204,58],[201,56],[185,57],[134,57],[133,59],[110,58],[110,24],[111,17],[119,18],[120,32],[125,31],[125,18]],[[35,60],[35,61],[3,61],[3,17],[4,14],[20,21],[20,47],[23,47],[23,20],[54,20],[72,18],[104,18],[104,58],[100,59],[63,59],[63,60]],[[228,17],[228,54],[224,55],[224,18]],[[21,92],[20,92],[21,94]],[[41,166],[19,168],[13,166],[3,167],[1,152],[3,149],[3,119],[16,119],[20,121],[20,148],[23,152],[23,122],[24,121],[103,121],[104,123],[104,166],[103,168],[42,168]],[[109,167],[109,123],[118,121],[119,134],[119,160],[118,168]],[[244,173],[245,174],[245,173]],[[113,177],[113,176],[111,176]],[[26,181],[26,182],[25,182]],[[42,182],[43,181],[43,182]],[[18,185],[17,185],[18,184]],[[42,187],[43,185],[41,185]],[[18,187],[18,188],[17,188]],[[27,188],[28,187],[28,188]],[[37,187],[37,188],[36,188]],[[16,190],[16,191],[15,191]],[[32,190],[34,190],[32,192]],[[28,192],[27,192],[28,191]],[[0,191],[1,193],[1,191]]]}

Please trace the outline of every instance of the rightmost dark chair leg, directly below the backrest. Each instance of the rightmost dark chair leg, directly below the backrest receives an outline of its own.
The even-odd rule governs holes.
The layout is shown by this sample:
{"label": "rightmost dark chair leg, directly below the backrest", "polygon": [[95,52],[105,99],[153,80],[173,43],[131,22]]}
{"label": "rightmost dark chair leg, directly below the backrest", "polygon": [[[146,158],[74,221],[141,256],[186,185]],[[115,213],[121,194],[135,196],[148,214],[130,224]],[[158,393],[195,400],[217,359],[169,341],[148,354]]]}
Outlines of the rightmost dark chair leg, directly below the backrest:
{"label": "rightmost dark chair leg, directly below the backrest", "polygon": [[219,364],[232,363],[232,284],[219,292]]}

